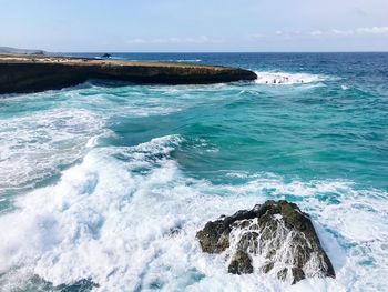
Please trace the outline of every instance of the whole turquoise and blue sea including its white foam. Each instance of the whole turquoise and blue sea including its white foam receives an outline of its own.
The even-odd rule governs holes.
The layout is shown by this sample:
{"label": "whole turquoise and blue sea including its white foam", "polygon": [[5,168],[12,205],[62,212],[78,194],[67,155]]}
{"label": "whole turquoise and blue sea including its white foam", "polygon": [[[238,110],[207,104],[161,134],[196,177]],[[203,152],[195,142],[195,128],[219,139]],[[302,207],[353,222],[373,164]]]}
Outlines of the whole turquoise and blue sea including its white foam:
{"label": "whole turquoise and blue sea including its white foam", "polygon": [[[1,97],[4,291],[82,279],[96,291],[385,290],[387,53],[114,58],[238,66],[258,80]],[[336,280],[239,278],[201,253],[207,220],[267,199],[312,214]]]}

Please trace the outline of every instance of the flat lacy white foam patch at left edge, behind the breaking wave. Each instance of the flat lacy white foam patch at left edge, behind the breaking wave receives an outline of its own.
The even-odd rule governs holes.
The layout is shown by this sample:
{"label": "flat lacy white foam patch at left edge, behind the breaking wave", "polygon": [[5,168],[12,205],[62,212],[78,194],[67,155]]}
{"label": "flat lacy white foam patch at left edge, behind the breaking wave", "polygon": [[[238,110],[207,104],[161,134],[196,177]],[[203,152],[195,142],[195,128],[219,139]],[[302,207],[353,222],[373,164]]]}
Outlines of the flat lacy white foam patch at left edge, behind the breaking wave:
{"label": "flat lacy white foam patch at left edge, behind the breaking wave", "polygon": [[90,137],[102,132],[98,115],[54,109],[0,120],[0,189],[59,173],[80,159]]}

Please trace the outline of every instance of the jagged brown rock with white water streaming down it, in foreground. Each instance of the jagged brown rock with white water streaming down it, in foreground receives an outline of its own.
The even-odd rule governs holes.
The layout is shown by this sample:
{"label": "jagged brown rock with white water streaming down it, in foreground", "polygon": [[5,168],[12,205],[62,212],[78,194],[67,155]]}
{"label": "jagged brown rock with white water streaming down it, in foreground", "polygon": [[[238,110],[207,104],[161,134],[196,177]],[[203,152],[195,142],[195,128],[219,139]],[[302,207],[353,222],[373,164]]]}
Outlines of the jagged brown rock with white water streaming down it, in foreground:
{"label": "jagged brown rock with white water streaming down it, in foreground", "polygon": [[335,278],[309,217],[287,201],[266,201],[210,221],[196,236],[204,252],[226,251],[231,273],[252,273],[255,258],[262,272],[290,283],[312,276]]}

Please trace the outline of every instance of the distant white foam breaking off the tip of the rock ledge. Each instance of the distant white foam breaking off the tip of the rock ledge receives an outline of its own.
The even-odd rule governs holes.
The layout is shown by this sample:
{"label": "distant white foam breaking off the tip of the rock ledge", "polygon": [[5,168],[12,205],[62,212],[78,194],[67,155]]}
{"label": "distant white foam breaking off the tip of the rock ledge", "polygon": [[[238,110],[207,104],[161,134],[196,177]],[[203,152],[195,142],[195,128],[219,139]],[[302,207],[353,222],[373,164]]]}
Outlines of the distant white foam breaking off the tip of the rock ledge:
{"label": "distant white foam breaking off the tip of the rock ledge", "polygon": [[316,74],[308,73],[287,73],[287,72],[269,72],[256,71],[256,83],[258,84],[274,84],[274,85],[289,85],[289,84],[307,84],[323,81],[324,78]]}

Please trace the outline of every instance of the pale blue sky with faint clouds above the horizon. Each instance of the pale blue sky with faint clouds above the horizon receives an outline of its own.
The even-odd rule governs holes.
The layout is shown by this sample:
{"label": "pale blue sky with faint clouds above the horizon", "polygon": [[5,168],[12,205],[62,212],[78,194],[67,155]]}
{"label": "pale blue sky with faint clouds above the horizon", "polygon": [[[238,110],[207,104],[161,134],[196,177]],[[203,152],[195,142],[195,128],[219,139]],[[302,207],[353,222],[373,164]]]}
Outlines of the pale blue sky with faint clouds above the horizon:
{"label": "pale blue sky with faint clouds above the horizon", "polygon": [[0,0],[0,47],[388,51],[388,0]]}

